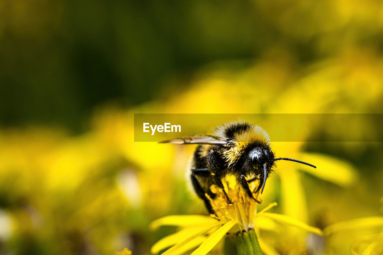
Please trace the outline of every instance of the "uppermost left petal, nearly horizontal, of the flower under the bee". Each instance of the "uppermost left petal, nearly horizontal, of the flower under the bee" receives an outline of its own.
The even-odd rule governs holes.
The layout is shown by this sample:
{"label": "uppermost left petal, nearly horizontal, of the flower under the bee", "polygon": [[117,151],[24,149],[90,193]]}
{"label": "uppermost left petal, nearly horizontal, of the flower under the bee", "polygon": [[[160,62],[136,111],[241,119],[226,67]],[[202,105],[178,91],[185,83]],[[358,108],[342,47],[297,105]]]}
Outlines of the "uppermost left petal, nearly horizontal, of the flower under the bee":
{"label": "uppermost left petal, nearly horizontal, of the flower under the bee", "polygon": [[160,226],[187,227],[196,224],[209,224],[214,222],[217,222],[217,220],[204,215],[169,215],[152,221],[149,228],[155,230]]}

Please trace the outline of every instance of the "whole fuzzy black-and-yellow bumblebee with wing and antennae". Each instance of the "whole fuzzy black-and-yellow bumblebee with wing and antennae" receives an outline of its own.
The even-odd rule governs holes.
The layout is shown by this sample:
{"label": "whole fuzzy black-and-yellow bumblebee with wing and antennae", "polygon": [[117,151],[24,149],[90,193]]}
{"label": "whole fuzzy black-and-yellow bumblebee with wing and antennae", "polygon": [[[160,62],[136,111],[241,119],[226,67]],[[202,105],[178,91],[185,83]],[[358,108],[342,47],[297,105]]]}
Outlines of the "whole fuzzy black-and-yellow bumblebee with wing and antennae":
{"label": "whole fuzzy black-and-yellow bumblebee with wing and antennae", "polygon": [[[275,168],[275,161],[290,160],[316,168],[314,165],[296,159],[275,158],[267,132],[259,126],[242,121],[216,127],[214,136],[188,136],[160,143],[198,144],[188,171],[196,194],[203,199],[206,208],[212,214],[214,212],[205,193],[214,198],[210,186],[214,184],[223,188],[222,179],[227,175],[234,175],[237,183],[251,198],[255,199],[249,183],[259,180],[262,185],[259,185],[254,193],[260,188],[262,193],[267,178]],[[231,203],[227,195],[226,197]],[[260,203],[260,201],[257,202]]]}

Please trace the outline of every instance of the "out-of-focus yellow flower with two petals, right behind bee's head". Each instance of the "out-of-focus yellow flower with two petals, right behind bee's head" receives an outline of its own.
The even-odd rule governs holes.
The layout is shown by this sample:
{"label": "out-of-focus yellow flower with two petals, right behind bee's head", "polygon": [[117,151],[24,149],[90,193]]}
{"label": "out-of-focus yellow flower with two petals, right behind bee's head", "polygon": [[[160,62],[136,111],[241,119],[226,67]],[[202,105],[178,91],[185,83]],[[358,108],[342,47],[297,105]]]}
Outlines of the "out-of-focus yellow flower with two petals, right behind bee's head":
{"label": "out-of-focus yellow flower with two petals, right behind bee's head", "polygon": [[310,162],[316,166],[313,168],[303,164],[294,165],[291,162],[278,162],[277,165],[283,214],[308,222],[308,206],[301,180],[302,172],[343,188],[356,183],[358,174],[355,167],[344,160],[326,154],[302,152],[303,145],[304,142],[272,143],[273,150],[278,152],[278,157],[289,155],[293,159]]}

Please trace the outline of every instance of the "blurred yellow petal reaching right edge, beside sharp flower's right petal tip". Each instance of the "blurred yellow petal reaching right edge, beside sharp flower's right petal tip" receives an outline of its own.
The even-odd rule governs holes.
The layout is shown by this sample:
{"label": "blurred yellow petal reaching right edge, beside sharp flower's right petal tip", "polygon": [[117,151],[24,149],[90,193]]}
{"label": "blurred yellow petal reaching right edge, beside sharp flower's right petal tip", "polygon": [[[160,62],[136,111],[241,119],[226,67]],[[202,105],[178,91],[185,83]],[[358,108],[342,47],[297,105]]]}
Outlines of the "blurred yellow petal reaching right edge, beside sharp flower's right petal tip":
{"label": "blurred yellow petal reaching right edge, beside sharp flower's right petal tip", "polygon": [[332,224],[323,229],[325,235],[330,235],[336,231],[378,227],[383,226],[383,217],[365,217],[352,219],[350,221],[342,221]]}

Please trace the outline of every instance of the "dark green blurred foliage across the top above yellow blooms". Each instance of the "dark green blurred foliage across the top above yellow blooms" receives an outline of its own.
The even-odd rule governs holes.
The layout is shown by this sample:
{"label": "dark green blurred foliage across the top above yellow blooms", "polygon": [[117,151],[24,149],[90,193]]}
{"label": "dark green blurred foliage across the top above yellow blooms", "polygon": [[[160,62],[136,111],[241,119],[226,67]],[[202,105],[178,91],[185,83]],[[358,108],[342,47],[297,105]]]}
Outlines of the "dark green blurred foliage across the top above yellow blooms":
{"label": "dark green blurred foliage across the top above yellow blooms", "polygon": [[299,70],[350,47],[380,55],[380,14],[373,0],[2,0],[0,121],[78,132],[100,103],[164,96],[216,60],[274,52]]}

